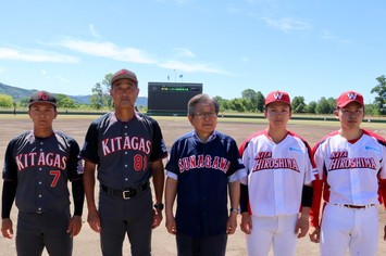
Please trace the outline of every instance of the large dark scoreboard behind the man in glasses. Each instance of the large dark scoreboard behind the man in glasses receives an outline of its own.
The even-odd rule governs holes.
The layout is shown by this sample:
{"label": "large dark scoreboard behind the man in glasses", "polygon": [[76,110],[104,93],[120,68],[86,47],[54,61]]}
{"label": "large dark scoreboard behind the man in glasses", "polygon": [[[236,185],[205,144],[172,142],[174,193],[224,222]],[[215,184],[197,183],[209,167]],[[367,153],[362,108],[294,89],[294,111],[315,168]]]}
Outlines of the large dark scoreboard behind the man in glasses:
{"label": "large dark scoreboard behind the man in glasses", "polygon": [[188,101],[200,93],[202,84],[149,81],[148,112],[186,114]]}

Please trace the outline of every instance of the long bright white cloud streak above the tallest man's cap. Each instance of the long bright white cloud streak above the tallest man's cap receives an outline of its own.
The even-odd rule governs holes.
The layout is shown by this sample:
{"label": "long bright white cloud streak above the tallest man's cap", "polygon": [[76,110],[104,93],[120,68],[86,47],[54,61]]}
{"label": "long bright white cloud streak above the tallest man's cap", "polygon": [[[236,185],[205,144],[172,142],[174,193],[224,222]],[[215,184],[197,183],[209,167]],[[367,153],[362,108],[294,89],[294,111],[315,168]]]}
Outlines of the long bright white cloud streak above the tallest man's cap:
{"label": "long bright white cloud streak above the tallest man's cap", "polygon": [[102,56],[121,62],[151,64],[157,61],[147,52],[136,48],[120,48],[112,42],[63,40],[55,44],[94,56]]}

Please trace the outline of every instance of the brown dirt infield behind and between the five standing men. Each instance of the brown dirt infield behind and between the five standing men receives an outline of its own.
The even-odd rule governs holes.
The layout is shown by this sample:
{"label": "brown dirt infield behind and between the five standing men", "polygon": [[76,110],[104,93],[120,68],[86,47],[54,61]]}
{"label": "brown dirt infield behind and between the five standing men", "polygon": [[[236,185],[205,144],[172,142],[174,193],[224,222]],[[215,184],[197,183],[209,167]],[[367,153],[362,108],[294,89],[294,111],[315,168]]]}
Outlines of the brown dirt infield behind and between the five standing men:
{"label": "brown dirt infield behind and between the five standing men", "polygon": [[[58,119],[54,120],[54,128],[61,130],[77,140],[82,146],[84,137],[86,135],[87,128],[92,119],[96,119],[97,116],[64,116],[59,115]],[[155,117],[159,121],[164,140],[167,149],[172,146],[175,139],[182,136],[185,132],[191,130],[191,126],[185,117]],[[32,123],[29,118],[24,116],[10,116],[10,115],[0,115],[0,166],[3,166],[3,157],[8,142],[22,133],[25,130],[32,129]],[[265,120],[233,120],[233,119],[223,119],[219,118],[217,130],[232,136],[235,138],[238,144],[242,142],[249,135],[253,133],[257,130],[264,129],[266,126]],[[320,138],[326,133],[337,129],[337,121],[320,121],[312,124],[301,120],[290,120],[288,128],[306,140],[309,141],[312,146]],[[363,123],[364,128],[369,128],[383,137],[386,137],[386,126],[384,124],[372,124]],[[2,180],[0,182],[0,190],[2,191]],[[11,218],[16,223],[16,207],[12,208]],[[84,226],[80,233],[74,240],[74,255],[101,255],[99,248],[99,235],[95,233],[85,222],[87,218],[87,208],[85,205],[84,210]],[[379,227],[382,228],[385,225],[385,210],[379,206]],[[15,227],[14,227],[15,228]],[[379,241],[379,252],[378,255],[386,255],[386,242],[381,238],[381,230],[378,235]],[[15,245],[13,240],[0,239],[0,255],[9,256],[15,254]],[[45,254],[47,255],[47,254]],[[127,240],[124,244],[124,255],[129,255],[129,246]],[[164,221],[161,226],[157,228],[153,232],[152,240],[152,255],[155,256],[167,256],[176,255],[175,249],[175,240],[174,236],[166,232],[164,227]],[[228,238],[227,253],[228,256],[242,256],[247,255],[245,236],[244,233],[237,229],[234,235]],[[297,247],[297,255],[299,256],[316,256],[319,255],[319,245],[311,243],[308,238],[299,240]]]}

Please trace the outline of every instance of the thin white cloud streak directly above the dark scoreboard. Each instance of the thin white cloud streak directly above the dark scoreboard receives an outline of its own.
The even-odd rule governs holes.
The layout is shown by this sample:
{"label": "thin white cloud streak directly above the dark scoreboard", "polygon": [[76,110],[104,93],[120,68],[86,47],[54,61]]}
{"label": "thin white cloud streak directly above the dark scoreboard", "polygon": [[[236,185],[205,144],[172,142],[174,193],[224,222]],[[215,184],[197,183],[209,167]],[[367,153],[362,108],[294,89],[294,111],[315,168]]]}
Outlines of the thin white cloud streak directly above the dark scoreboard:
{"label": "thin white cloud streak directly above the dark scoreboard", "polygon": [[208,64],[198,63],[198,64],[187,64],[178,61],[166,61],[164,63],[159,64],[160,67],[164,67],[167,69],[177,69],[186,73],[194,73],[194,72],[202,72],[202,73],[214,73],[214,74],[222,74],[222,75],[232,75],[229,72],[219,69],[215,67],[211,67]]}

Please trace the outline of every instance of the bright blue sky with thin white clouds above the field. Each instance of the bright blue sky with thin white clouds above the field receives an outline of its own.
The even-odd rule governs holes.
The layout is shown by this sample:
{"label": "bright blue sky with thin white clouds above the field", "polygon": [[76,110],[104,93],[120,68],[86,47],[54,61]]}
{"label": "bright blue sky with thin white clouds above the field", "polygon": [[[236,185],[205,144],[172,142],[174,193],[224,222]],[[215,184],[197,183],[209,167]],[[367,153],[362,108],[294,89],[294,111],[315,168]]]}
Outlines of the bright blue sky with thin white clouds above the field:
{"label": "bright blue sky with thin white clouds above the field", "polygon": [[371,103],[386,75],[385,24],[384,0],[3,1],[0,82],[84,95],[128,68],[142,97],[169,76],[225,99],[357,90]]}

